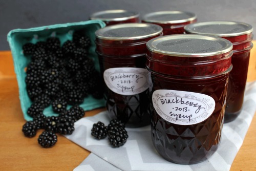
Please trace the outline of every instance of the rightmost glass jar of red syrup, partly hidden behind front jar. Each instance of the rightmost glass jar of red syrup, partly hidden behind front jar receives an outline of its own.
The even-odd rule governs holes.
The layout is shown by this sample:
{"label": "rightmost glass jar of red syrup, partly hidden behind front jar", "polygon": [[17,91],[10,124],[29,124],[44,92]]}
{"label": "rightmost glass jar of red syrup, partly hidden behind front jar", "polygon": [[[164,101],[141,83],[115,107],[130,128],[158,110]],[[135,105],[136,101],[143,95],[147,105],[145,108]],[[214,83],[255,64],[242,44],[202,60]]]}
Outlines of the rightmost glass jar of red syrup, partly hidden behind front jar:
{"label": "rightmost glass jar of red syrup, partly hidden behind front jar", "polygon": [[207,34],[225,38],[233,44],[232,66],[229,74],[224,122],[230,122],[241,113],[246,86],[252,26],[240,22],[215,21],[190,24],[186,33]]}

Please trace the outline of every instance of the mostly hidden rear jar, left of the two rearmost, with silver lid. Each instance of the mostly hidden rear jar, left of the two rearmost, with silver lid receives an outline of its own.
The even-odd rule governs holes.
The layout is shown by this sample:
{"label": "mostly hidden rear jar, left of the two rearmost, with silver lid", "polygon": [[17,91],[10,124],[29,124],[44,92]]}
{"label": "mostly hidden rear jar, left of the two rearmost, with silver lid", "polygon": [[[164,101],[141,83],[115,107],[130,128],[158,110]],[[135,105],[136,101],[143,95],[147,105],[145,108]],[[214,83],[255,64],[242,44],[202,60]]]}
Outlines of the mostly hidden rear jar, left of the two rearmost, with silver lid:
{"label": "mostly hidden rear jar, left of the two rearmost, with silver lid", "polygon": [[139,23],[140,14],[134,11],[126,10],[106,10],[93,13],[90,19],[100,19],[106,26],[122,24],[122,23]]}

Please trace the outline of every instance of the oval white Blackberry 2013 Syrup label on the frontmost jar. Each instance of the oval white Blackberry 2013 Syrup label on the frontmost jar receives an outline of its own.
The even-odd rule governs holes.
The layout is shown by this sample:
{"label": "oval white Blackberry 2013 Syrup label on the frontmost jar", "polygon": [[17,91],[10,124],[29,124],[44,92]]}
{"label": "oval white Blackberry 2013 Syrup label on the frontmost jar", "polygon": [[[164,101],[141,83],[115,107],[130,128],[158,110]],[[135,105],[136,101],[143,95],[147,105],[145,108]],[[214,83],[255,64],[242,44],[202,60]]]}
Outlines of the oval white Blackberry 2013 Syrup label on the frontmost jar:
{"label": "oval white Blackberry 2013 Syrup label on the frontmost jar", "polygon": [[176,90],[156,90],[153,106],[166,121],[191,125],[206,120],[215,110],[215,100],[205,94]]}

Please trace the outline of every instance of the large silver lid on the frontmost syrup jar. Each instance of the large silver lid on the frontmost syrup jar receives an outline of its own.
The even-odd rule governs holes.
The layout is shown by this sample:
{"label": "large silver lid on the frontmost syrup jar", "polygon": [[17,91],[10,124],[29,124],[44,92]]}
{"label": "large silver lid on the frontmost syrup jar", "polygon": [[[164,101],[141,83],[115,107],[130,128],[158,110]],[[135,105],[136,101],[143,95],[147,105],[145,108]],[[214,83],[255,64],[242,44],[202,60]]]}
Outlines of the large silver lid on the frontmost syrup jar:
{"label": "large silver lid on the frontmost syrup jar", "polygon": [[146,46],[154,53],[182,57],[214,56],[232,50],[230,41],[200,34],[160,36],[149,40]]}

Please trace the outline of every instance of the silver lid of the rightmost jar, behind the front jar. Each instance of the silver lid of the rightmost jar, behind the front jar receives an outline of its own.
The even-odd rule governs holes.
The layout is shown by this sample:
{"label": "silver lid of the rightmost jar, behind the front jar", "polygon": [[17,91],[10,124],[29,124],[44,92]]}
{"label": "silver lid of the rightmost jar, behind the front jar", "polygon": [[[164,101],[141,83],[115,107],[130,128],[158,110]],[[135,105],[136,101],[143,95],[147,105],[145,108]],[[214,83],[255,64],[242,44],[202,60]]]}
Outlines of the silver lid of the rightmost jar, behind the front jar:
{"label": "silver lid of the rightmost jar, behind the front jar", "polygon": [[184,30],[187,33],[229,37],[249,34],[253,28],[251,25],[241,22],[214,21],[189,24],[184,27]]}

